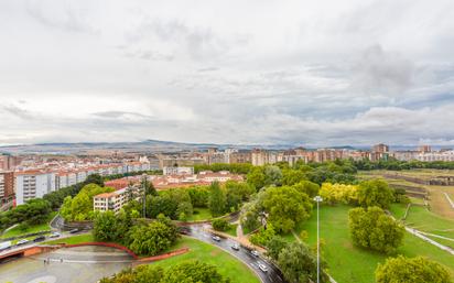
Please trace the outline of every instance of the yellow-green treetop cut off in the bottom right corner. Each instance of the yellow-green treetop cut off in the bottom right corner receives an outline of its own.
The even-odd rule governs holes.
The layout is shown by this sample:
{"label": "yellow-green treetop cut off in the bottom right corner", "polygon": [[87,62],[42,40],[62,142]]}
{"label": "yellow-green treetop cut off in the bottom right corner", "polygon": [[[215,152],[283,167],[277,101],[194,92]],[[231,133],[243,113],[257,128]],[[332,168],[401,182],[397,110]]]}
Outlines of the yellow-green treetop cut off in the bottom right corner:
{"label": "yellow-green treetop cut off in the bottom right corner", "polygon": [[377,283],[451,283],[450,272],[422,257],[389,258],[376,270]]}

